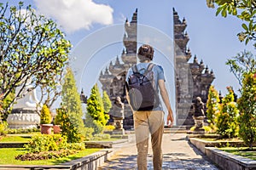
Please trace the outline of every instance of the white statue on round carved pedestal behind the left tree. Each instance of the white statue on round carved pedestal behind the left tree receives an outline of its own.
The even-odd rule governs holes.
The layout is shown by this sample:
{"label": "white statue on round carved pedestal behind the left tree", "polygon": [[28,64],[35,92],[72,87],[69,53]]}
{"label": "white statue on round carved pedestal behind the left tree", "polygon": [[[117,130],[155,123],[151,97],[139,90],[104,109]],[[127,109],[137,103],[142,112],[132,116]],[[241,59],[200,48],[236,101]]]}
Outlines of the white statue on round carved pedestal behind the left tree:
{"label": "white statue on round carved pedestal behind the left tree", "polygon": [[[16,93],[20,92],[20,87],[16,89]],[[32,128],[38,127],[40,116],[38,115],[39,101],[36,94],[36,89],[32,88],[31,81],[26,83],[20,99],[14,105],[12,113],[9,114],[7,122],[9,128]]]}

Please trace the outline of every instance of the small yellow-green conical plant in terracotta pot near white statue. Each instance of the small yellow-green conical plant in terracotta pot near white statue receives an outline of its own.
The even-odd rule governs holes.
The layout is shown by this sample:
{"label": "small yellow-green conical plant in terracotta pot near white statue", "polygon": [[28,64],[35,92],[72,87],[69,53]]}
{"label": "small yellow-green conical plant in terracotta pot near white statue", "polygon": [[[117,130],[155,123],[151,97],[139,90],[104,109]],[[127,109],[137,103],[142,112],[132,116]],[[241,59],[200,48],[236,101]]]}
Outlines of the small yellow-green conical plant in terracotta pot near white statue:
{"label": "small yellow-green conical plant in terracotta pot near white statue", "polygon": [[49,112],[49,108],[47,107],[47,105],[43,105],[43,108],[41,110],[41,116],[40,116],[41,133],[43,134],[51,133],[51,127],[53,126],[52,124],[50,124],[51,121],[52,121],[52,118]]}

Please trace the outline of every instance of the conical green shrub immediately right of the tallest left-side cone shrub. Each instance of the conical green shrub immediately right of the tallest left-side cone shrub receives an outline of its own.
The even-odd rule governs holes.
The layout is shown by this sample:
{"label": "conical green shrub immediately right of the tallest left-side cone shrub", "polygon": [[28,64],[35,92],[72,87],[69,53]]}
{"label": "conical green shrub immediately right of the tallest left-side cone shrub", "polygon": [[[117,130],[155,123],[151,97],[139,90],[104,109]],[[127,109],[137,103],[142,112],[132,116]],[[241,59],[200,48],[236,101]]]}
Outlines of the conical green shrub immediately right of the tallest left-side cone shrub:
{"label": "conical green shrub immediately right of the tallest left-side cone shrub", "polygon": [[87,100],[86,110],[85,126],[93,127],[94,133],[102,133],[109,116],[108,114],[104,114],[104,105],[97,84],[90,90],[90,98]]}

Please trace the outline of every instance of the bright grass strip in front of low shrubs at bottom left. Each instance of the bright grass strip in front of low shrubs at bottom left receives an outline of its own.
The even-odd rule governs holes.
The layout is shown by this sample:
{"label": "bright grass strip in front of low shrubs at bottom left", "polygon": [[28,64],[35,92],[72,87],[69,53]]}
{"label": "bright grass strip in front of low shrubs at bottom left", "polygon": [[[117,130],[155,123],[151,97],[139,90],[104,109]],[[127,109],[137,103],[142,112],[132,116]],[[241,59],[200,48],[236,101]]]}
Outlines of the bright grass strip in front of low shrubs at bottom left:
{"label": "bright grass strip in front of low shrubs at bottom left", "polygon": [[85,149],[80,151],[77,154],[70,155],[63,158],[58,158],[58,159],[49,159],[49,160],[42,160],[42,161],[20,161],[20,160],[15,160],[15,156],[26,153],[25,149],[0,148],[0,164],[1,165],[58,165],[66,161],[71,161],[83,156],[88,156],[99,150],[102,150],[102,149]]}

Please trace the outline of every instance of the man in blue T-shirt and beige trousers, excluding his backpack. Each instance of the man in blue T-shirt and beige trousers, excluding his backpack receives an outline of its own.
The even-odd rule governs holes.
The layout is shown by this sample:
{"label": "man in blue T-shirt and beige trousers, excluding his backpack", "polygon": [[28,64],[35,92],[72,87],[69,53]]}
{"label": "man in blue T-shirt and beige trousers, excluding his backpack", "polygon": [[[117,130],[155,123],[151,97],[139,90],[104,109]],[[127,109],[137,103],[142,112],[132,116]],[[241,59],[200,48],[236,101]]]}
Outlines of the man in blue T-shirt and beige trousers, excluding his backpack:
{"label": "man in blue T-shirt and beige trousers, excluding his backpack", "polygon": [[[137,71],[141,74],[145,74],[148,69],[148,65],[151,63],[154,57],[154,49],[144,44],[138,49],[137,54],[140,63],[137,64]],[[130,68],[126,75],[126,82],[129,83],[131,75],[134,74],[134,69]],[[168,111],[167,125],[172,127],[173,114],[169,101],[169,97],[165,86],[165,76],[163,68],[160,65],[153,65],[152,71],[154,74],[154,87],[157,95],[160,94],[166,105]],[[128,89],[129,90],[129,89]],[[128,92],[129,93],[129,92]],[[129,95],[127,99],[131,105]],[[153,149],[153,164],[154,170],[161,169],[162,167],[162,136],[164,133],[164,112],[160,102],[154,105],[153,109],[148,111],[133,111],[134,128],[137,142],[137,167],[139,170],[147,169],[147,156],[148,156],[148,135],[151,134],[151,144]]]}

